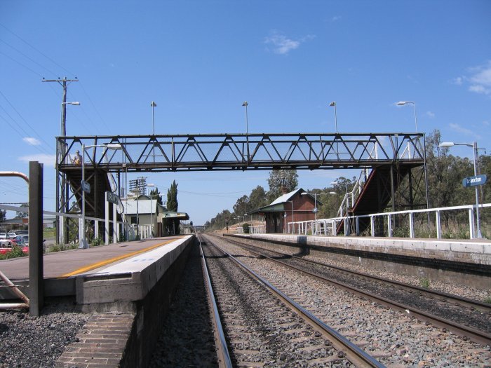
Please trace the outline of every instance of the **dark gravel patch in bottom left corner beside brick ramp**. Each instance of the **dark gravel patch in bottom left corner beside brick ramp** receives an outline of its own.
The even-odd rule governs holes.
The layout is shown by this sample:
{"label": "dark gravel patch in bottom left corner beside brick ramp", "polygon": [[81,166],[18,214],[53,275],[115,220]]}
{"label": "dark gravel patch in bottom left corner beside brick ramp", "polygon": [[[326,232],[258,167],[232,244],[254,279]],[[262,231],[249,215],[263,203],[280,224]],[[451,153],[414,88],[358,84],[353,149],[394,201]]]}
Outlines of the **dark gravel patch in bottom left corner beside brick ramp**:
{"label": "dark gravel patch in bottom left corner beside brick ramp", "polygon": [[0,367],[55,367],[89,317],[67,300],[51,301],[39,317],[0,311]]}

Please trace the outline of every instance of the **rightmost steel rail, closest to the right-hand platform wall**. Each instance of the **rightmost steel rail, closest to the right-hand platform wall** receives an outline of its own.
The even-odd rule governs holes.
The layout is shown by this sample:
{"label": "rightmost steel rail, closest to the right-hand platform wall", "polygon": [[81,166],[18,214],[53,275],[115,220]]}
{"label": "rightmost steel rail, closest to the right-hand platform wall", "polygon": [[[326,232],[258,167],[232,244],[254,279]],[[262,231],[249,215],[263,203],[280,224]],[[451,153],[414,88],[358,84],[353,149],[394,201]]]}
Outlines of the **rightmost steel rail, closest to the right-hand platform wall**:
{"label": "rightmost steel rail, closest to the right-hand platform wall", "polygon": [[[231,241],[234,242],[234,243],[236,243],[237,245],[241,245],[241,246],[245,245],[246,247],[253,247],[253,248],[258,249],[258,250],[263,250],[261,247],[256,247],[255,245],[241,243],[241,242],[238,242],[237,240],[231,240]],[[398,282],[398,281],[394,281],[394,280],[387,280],[385,278],[380,278],[379,276],[369,275],[368,273],[363,273],[363,272],[358,272],[358,271],[352,271],[352,270],[349,270],[347,268],[342,268],[342,267],[338,267],[338,266],[332,266],[330,264],[324,264],[322,262],[314,261],[312,259],[304,259],[302,257],[298,257],[298,256],[295,256],[295,255],[278,252],[277,250],[269,250],[269,249],[264,249],[264,250],[267,250],[268,252],[271,252],[271,253],[276,253],[280,257],[288,256],[288,257],[290,257],[292,259],[297,259],[297,260],[303,261],[305,263],[317,264],[319,266],[333,268],[333,269],[335,269],[337,271],[341,271],[341,272],[348,273],[348,274],[351,274],[351,275],[357,275],[357,276],[361,276],[363,278],[367,278],[368,280],[370,280],[370,279],[377,280],[377,281],[380,281],[380,282],[384,282],[385,284],[391,284],[391,285],[394,285],[394,286],[397,286],[397,287],[403,287],[404,289],[409,289],[409,290],[412,290],[412,291],[415,291],[415,292],[427,294],[427,295],[429,295],[431,297],[438,297],[441,300],[444,300],[445,299],[444,301],[452,301],[453,303],[458,303],[458,304],[460,304],[462,306],[465,306],[465,307],[468,307],[468,308],[476,308],[476,309],[478,309],[480,311],[483,311],[485,313],[491,313],[491,304],[485,303],[483,301],[478,301],[478,300],[475,300],[475,299],[469,299],[469,298],[466,298],[466,297],[459,297],[458,295],[449,294],[447,292],[440,292],[438,290],[429,290],[429,289],[425,289],[424,287],[419,287],[419,286],[415,286],[415,285],[406,284],[405,282]]]}

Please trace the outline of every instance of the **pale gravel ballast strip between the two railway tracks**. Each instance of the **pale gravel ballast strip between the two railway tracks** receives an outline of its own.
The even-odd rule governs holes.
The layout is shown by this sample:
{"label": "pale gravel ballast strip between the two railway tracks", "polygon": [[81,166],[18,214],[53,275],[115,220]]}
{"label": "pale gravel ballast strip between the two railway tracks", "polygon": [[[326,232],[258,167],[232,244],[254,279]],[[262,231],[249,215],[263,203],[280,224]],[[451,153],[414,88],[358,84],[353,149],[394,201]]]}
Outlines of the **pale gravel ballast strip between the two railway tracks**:
{"label": "pale gravel ballast strip between the two railway tracks", "polygon": [[[221,239],[220,239],[221,240]],[[390,367],[489,367],[491,349],[443,329],[392,311],[379,304],[312,280],[266,259],[250,257],[241,248],[225,245],[241,260],[264,275],[358,346]]]}

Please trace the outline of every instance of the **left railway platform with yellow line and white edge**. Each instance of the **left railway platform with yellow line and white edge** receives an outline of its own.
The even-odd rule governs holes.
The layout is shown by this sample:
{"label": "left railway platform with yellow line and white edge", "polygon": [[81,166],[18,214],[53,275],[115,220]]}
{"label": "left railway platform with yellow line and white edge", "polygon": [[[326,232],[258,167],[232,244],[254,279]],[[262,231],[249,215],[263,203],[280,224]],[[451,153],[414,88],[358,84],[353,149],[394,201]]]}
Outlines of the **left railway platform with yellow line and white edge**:
{"label": "left railway platform with yellow line and white edge", "polygon": [[[89,309],[131,310],[133,302],[144,299],[193,237],[152,238],[45,254],[45,297],[76,297],[77,304]],[[25,290],[28,257],[0,261],[0,270],[29,294]],[[0,300],[12,299],[10,293],[0,288]]]}

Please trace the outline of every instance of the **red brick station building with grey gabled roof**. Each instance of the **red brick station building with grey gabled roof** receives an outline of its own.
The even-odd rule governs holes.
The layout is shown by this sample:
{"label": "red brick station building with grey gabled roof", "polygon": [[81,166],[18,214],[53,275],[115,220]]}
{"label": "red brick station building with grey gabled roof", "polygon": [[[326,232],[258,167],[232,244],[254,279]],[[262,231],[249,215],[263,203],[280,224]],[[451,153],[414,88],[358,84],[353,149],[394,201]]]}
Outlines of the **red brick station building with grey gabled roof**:
{"label": "red brick station building with grey gabled roof", "polygon": [[[290,193],[283,193],[271,204],[260,207],[248,214],[264,216],[266,233],[285,233],[288,229],[288,222],[314,220],[314,205],[314,196],[300,188],[290,191]],[[318,200],[317,205],[321,205]]]}

